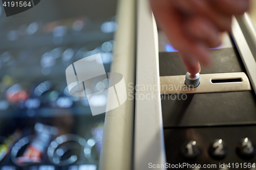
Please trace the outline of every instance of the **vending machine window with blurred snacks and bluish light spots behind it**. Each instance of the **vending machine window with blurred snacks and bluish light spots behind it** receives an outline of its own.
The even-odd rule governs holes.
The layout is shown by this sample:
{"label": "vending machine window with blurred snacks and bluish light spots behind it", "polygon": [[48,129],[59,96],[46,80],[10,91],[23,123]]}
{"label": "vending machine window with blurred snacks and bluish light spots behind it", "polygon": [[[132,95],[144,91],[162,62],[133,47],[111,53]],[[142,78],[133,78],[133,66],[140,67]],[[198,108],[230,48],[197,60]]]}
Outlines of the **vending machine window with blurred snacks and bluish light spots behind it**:
{"label": "vending machine window with blurred snacks and bluish light spots behind it", "polygon": [[110,72],[116,17],[116,0],[0,6],[1,169],[98,169],[105,116],[70,95],[65,70],[100,53]]}

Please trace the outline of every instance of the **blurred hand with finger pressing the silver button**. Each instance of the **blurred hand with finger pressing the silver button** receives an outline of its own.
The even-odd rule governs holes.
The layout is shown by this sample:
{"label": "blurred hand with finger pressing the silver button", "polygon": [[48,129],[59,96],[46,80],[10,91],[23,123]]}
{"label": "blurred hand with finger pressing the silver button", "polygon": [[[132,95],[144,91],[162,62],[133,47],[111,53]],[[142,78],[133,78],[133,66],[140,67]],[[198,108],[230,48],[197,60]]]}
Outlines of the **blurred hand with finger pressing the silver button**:
{"label": "blurred hand with finger pressing the silver button", "polygon": [[249,5],[249,0],[151,0],[160,28],[190,74],[200,72],[200,64],[211,65],[207,49],[221,44],[232,15],[243,14]]}

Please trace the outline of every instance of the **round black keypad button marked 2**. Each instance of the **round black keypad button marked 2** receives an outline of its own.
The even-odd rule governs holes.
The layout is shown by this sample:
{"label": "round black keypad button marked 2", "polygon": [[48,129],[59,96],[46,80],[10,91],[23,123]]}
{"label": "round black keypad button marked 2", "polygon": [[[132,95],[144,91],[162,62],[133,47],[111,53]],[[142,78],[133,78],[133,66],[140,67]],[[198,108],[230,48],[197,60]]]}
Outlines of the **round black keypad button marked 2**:
{"label": "round black keypad button marked 2", "polygon": [[217,139],[211,143],[209,154],[214,159],[222,159],[228,154],[228,149],[222,139]]}

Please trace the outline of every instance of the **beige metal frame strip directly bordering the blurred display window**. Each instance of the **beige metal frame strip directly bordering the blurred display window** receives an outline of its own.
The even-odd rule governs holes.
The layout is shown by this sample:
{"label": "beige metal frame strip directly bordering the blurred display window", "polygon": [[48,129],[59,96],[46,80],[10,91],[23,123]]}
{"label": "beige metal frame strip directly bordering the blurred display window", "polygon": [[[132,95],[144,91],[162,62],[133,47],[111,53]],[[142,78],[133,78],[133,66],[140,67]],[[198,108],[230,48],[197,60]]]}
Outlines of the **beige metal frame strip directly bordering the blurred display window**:
{"label": "beige metal frame strip directly bordering the blurred display window", "polygon": [[[117,24],[111,72],[123,75],[127,100],[105,114],[99,163],[101,170],[132,168],[135,100],[131,96],[135,90],[131,88],[135,84],[135,0],[118,1]],[[129,92],[133,95],[129,95]]]}

